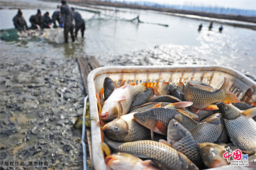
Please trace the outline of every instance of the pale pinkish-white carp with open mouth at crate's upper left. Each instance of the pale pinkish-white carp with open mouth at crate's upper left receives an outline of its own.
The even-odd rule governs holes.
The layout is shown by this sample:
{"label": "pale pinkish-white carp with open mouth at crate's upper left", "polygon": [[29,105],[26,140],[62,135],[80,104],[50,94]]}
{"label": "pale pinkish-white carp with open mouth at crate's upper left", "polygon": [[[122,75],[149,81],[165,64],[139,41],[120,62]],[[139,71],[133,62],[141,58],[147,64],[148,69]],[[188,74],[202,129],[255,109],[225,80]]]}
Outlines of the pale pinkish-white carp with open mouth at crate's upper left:
{"label": "pale pinkish-white carp with open mouth at crate's upper left", "polygon": [[126,115],[131,107],[133,98],[143,90],[146,90],[145,84],[137,86],[126,84],[119,88],[115,88],[113,93],[104,102],[100,113],[101,119],[110,122],[117,117]]}

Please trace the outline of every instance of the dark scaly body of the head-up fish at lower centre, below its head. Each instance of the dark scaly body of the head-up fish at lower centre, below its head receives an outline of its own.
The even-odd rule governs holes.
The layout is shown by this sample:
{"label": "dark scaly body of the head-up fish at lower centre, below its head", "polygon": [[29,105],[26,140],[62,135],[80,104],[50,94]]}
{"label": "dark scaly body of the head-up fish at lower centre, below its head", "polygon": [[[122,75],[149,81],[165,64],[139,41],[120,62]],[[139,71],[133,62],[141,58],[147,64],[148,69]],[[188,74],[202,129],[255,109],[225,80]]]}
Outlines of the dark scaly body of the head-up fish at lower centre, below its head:
{"label": "dark scaly body of the head-up fish at lower centre, below its head", "polygon": [[189,158],[195,165],[201,166],[202,159],[197,148],[197,143],[195,142],[193,136],[189,131],[177,142],[172,142],[172,146],[179,152],[183,153],[187,158]]}

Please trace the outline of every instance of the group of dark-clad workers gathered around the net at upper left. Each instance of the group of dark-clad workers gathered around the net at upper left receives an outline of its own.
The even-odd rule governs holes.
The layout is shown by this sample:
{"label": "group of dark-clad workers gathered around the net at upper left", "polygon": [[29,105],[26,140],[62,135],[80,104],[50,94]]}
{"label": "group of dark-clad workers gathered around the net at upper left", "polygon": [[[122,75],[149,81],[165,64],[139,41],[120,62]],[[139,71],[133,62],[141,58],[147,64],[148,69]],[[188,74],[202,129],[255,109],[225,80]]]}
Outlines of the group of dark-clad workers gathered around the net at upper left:
{"label": "group of dark-clad workers gathered around the net at upper left", "polygon": [[[18,31],[26,31],[27,29],[44,29],[51,28],[53,23],[53,28],[57,28],[56,20],[59,23],[61,28],[64,28],[64,38],[65,42],[68,42],[68,33],[70,32],[72,41],[75,41],[77,38],[77,33],[81,30],[82,37],[84,37],[85,22],[82,19],[82,16],[75,11],[75,8],[69,7],[66,1],[61,1],[60,11],[55,11],[52,14],[52,19],[49,17],[49,12],[46,12],[42,16],[40,9],[37,10],[37,14],[30,16],[29,21],[31,22],[31,27],[28,28],[25,19],[22,16],[22,12],[18,9],[18,14],[13,18],[13,24]],[[73,24],[75,20],[75,26]],[[75,28],[75,35],[73,33]]]}

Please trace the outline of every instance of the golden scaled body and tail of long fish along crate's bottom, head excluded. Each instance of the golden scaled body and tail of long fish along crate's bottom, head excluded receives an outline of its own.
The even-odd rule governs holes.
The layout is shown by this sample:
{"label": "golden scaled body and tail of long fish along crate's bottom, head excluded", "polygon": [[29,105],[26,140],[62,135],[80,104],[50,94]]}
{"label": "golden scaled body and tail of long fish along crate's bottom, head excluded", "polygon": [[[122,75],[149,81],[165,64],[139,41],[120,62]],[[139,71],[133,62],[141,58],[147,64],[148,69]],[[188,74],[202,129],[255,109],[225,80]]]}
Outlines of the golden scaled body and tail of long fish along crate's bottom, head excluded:
{"label": "golden scaled body and tail of long fish along crate's bottom, head excluded", "polygon": [[160,169],[182,169],[182,163],[178,152],[174,148],[160,142],[139,140],[135,142],[121,143],[109,139],[104,140],[110,149],[117,152],[125,152],[152,158],[152,161]]}

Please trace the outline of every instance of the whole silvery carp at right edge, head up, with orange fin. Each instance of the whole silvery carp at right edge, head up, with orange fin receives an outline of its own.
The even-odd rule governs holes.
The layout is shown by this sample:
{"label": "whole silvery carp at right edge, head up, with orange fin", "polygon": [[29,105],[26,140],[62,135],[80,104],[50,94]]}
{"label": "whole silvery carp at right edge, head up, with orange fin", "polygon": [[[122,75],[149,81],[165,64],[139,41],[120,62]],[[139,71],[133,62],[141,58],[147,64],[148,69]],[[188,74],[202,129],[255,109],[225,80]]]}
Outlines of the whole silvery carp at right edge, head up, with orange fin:
{"label": "whole silvery carp at right edge, head up, with orange fin", "polygon": [[241,111],[231,103],[223,103],[224,125],[232,144],[241,151],[256,153],[256,107]]}

